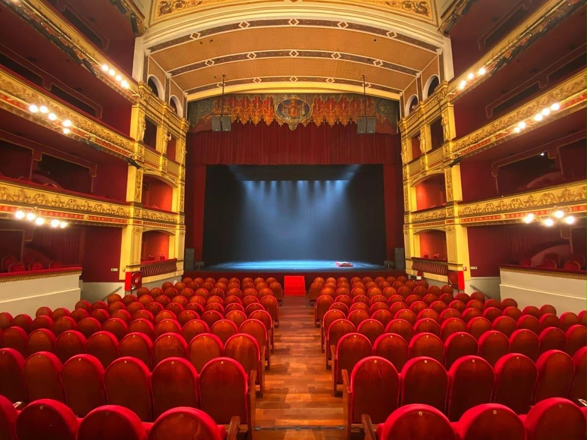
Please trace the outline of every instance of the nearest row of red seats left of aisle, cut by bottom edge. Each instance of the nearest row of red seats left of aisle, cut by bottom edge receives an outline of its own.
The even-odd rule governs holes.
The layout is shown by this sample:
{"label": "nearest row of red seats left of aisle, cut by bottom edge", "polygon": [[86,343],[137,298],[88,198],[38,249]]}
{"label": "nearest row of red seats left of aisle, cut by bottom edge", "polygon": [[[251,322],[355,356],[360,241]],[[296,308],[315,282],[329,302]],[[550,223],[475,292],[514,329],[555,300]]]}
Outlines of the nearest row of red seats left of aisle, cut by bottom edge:
{"label": "nearest row of red seats left of aisle, cut by bottom edge", "polygon": [[102,405],[78,418],[62,402],[41,399],[17,411],[0,396],[0,438],[8,440],[236,440],[240,419],[215,424],[201,409],[177,407],[153,422],[141,422],[134,412],[118,405]]}

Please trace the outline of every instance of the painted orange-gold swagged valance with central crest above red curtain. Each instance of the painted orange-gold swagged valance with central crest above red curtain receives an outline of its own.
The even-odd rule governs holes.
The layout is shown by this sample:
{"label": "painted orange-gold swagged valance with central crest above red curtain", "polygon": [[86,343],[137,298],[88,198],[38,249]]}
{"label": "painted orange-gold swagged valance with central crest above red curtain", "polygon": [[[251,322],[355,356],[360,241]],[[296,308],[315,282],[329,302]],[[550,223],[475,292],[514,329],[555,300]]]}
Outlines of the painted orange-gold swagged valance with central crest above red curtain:
{"label": "painted orange-gold swagged valance with central crest above red curtain", "polygon": [[230,115],[232,123],[276,122],[280,126],[288,124],[290,130],[309,123],[346,126],[366,114],[375,116],[377,133],[396,134],[399,104],[360,94],[230,94],[223,101],[212,97],[189,103],[190,131],[211,130],[212,116],[221,113]]}

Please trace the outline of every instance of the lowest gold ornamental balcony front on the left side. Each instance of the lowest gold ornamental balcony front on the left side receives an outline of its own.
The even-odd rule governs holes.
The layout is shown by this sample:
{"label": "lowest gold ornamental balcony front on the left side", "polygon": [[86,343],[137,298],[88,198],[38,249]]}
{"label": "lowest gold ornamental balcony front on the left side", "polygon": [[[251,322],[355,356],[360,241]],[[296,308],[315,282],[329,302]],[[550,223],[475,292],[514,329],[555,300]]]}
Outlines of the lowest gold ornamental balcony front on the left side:
{"label": "lowest gold ornamental balcony front on the left side", "polygon": [[75,211],[85,214],[100,214],[124,218],[130,216],[130,208],[122,204],[73,197],[72,195],[57,191],[31,188],[11,182],[1,182],[0,202],[29,205],[38,208],[53,208],[59,209],[60,211]]}

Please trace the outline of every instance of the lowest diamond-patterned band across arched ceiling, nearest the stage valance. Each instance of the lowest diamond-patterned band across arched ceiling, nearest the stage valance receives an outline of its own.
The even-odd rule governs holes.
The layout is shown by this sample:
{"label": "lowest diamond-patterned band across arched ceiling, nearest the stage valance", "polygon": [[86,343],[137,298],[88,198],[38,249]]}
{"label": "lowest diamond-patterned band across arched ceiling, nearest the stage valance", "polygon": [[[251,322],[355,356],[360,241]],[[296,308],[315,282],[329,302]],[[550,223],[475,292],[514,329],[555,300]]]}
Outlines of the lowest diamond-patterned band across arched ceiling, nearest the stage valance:
{"label": "lowest diamond-patterned band across arched ceiling, nearest the stage valance", "polygon": [[[234,80],[227,80],[225,86],[238,86],[241,84],[262,84],[262,83],[322,83],[322,84],[345,84],[346,86],[363,87],[362,80],[352,80],[345,78],[332,78],[326,76],[258,76],[253,78],[241,78]],[[201,93],[207,90],[220,89],[222,83],[210,83],[204,86],[194,87],[193,89],[186,90],[185,93]],[[382,92],[400,94],[402,90],[394,89],[393,87],[382,86],[381,84],[366,83],[367,89],[380,90]]]}

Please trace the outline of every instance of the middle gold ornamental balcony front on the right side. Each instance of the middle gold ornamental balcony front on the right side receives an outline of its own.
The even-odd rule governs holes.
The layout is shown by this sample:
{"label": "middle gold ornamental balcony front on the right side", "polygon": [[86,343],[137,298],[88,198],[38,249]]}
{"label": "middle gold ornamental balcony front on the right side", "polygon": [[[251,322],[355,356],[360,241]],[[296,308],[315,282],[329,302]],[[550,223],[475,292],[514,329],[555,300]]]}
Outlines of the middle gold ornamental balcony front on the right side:
{"label": "middle gold ornamental balcony front on the right side", "polygon": [[[487,150],[487,148],[494,147],[515,136],[521,136],[530,130],[534,130],[535,128],[552,123],[552,121],[563,116],[584,109],[587,98],[585,92],[587,86],[586,75],[587,70],[582,70],[529,103],[473,131],[473,133],[457,139],[453,144],[453,153],[457,157],[480,153],[483,150]],[[519,121],[531,119],[539,111],[545,107],[550,107],[553,103],[559,103],[560,110],[552,112],[541,122],[532,120],[522,133],[515,134],[514,127]],[[447,157],[446,160],[450,160],[450,158]]]}

